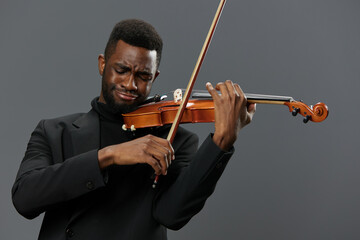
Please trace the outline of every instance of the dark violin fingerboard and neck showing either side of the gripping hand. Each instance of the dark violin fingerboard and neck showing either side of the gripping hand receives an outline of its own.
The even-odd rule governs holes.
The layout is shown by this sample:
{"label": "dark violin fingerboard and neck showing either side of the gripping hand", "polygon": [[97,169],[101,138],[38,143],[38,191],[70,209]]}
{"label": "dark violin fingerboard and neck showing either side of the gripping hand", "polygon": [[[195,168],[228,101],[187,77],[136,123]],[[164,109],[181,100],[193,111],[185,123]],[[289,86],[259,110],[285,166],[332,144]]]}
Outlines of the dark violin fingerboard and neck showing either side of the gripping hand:
{"label": "dark violin fingerboard and neck showing either side of the gripping hand", "polygon": [[[262,103],[262,104],[285,104],[287,102],[293,102],[294,99],[288,96],[276,96],[276,95],[264,95],[245,93],[247,101],[249,103]],[[207,92],[194,92],[193,98],[211,99],[210,93]]]}

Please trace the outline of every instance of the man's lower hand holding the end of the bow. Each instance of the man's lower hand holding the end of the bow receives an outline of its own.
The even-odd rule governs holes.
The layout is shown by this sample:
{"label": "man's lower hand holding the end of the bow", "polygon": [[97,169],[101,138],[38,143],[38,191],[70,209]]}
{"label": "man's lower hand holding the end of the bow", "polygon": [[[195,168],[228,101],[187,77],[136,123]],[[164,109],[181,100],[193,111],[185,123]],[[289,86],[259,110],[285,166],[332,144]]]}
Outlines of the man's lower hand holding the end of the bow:
{"label": "man's lower hand holding the end of the bow", "polygon": [[113,164],[133,165],[147,163],[155,170],[157,175],[166,175],[167,169],[175,156],[174,149],[169,141],[147,135],[133,141],[100,149],[98,159],[101,169]]}

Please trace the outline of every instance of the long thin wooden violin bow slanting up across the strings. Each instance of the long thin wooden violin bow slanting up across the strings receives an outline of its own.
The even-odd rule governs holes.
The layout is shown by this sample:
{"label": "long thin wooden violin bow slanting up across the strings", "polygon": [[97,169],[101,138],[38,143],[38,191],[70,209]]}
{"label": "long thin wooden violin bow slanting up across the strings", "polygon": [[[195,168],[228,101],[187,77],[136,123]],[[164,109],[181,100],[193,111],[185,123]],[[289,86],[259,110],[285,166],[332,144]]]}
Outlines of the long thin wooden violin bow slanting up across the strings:
{"label": "long thin wooden violin bow slanting up across the strings", "polygon": [[[203,47],[201,49],[200,55],[198,57],[196,65],[194,67],[193,73],[191,74],[190,81],[189,81],[188,86],[186,88],[184,97],[183,97],[183,99],[181,101],[179,110],[177,111],[174,122],[171,125],[170,131],[169,131],[169,134],[168,134],[168,137],[167,137],[167,140],[170,143],[172,143],[174,141],[176,131],[177,131],[177,129],[179,127],[179,124],[180,124],[180,120],[182,118],[182,115],[184,114],[185,107],[186,107],[186,105],[187,105],[187,103],[189,101],[191,91],[192,91],[192,89],[194,87],[197,75],[199,74],[201,65],[202,65],[202,63],[204,61],[206,52],[207,52],[207,50],[209,48],[211,39],[212,39],[212,37],[214,35],[215,28],[216,28],[216,26],[217,26],[217,24],[219,22],[222,10],[224,9],[225,2],[226,2],[226,0],[221,0],[220,3],[219,3],[219,6],[218,6],[218,8],[216,10],[216,13],[215,13],[215,16],[214,16],[214,19],[212,21],[212,24],[211,24],[210,29],[208,31],[208,34],[206,36],[205,42],[204,42]],[[159,175],[156,175],[155,180],[154,180],[154,184],[153,184],[153,188],[156,187],[156,184],[157,184],[158,180],[159,180]]]}

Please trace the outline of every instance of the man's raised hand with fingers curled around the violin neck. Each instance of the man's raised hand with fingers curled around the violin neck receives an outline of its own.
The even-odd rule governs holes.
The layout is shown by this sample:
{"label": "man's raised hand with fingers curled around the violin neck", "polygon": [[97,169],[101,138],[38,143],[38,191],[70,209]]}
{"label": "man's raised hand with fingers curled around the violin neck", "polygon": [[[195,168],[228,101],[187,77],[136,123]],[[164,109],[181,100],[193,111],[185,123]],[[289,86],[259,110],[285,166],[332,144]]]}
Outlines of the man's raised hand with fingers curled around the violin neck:
{"label": "man's raised hand with fingers curled around the violin neck", "polygon": [[[238,84],[230,80],[218,83],[215,88],[211,83],[206,88],[214,100],[215,133],[213,141],[222,150],[229,150],[243,127],[249,124],[255,113],[256,105],[249,104]],[[221,95],[216,90],[221,92]]]}

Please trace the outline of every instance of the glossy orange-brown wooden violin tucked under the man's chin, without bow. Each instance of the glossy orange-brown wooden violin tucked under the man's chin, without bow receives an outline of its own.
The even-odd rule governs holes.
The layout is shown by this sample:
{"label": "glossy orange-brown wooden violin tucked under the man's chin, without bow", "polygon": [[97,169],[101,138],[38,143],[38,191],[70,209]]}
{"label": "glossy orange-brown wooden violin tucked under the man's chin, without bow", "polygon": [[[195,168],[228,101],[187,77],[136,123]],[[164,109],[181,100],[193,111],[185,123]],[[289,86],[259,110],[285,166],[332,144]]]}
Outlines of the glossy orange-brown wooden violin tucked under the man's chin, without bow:
{"label": "glossy orange-brown wooden violin tucked under the man's chin, without bow", "polygon": [[[324,103],[308,106],[302,101],[295,101],[288,96],[274,96],[245,93],[248,103],[285,105],[293,116],[304,116],[303,122],[321,122],[329,115],[328,107]],[[193,98],[186,104],[180,123],[206,123],[214,122],[214,102],[209,93],[195,92]],[[123,114],[124,130],[137,128],[157,127],[174,122],[181,100],[158,101],[140,106],[137,110]]]}

